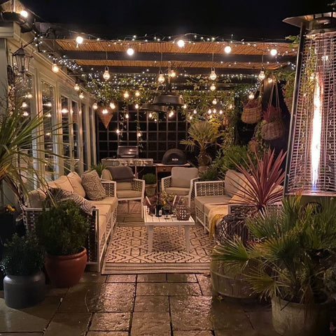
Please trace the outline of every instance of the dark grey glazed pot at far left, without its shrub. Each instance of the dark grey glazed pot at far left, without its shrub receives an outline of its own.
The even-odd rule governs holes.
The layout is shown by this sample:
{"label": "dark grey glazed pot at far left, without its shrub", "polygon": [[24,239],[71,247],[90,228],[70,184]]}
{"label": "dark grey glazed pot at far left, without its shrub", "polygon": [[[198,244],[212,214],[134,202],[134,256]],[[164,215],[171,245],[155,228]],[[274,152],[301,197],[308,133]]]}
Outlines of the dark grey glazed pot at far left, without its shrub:
{"label": "dark grey glazed pot at far left, without its shrub", "polygon": [[3,279],[3,295],[10,308],[26,308],[38,304],[45,297],[45,275],[42,271],[33,275],[6,275]]}

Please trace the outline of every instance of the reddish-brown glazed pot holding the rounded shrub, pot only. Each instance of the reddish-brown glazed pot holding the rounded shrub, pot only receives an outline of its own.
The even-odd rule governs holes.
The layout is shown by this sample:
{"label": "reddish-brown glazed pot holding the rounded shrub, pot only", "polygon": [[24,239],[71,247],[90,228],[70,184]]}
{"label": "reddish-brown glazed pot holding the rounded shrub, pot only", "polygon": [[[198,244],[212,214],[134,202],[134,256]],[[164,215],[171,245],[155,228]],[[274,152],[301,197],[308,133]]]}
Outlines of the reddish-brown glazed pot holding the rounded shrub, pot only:
{"label": "reddish-brown glazed pot holding the rounded shrub, pot only", "polygon": [[83,276],[87,262],[86,248],[73,255],[47,255],[45,270],[52,286],[66,288],[76,285]]}

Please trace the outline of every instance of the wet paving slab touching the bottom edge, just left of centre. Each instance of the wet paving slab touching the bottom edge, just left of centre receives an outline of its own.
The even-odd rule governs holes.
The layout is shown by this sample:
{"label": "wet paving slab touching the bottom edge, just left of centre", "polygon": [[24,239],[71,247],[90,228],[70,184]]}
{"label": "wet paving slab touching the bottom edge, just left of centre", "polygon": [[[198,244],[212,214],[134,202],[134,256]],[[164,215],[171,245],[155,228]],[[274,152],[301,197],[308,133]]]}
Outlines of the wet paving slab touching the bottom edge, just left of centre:
{"label": "wet paving slab touching the bottom edge, just left of centre", "polygon": [[170,336],[169,313],[134,312],[131,336]]}

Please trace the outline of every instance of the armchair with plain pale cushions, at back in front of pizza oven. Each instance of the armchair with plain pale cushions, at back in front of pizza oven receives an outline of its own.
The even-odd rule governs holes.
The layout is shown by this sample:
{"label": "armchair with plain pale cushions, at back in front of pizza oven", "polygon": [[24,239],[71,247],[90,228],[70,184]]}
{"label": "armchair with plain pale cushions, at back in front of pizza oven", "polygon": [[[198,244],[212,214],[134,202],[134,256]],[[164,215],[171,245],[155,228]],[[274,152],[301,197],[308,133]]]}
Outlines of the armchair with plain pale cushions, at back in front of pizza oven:
{"label": "armchair with plain pale cushions, at back in front of pizza oven", "polygon": [[190,207],[194,183],[198,179],[198,169],[195,167],[173,167],[172,175],[161,179],[161,191],[186,198]]}

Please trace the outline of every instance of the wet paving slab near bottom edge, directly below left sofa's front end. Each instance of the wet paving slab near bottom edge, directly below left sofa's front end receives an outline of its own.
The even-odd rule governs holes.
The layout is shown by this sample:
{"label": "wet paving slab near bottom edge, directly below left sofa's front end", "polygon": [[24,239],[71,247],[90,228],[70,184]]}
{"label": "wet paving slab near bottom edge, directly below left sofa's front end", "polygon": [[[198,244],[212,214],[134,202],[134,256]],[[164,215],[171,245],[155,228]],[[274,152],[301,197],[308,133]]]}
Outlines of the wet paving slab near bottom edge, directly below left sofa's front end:
{"label": "wet paving slab near bottom edge, directly below left sofa's front end", "polygon": [[131,313],[94,313],[90,330],[128,331]]}

